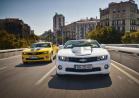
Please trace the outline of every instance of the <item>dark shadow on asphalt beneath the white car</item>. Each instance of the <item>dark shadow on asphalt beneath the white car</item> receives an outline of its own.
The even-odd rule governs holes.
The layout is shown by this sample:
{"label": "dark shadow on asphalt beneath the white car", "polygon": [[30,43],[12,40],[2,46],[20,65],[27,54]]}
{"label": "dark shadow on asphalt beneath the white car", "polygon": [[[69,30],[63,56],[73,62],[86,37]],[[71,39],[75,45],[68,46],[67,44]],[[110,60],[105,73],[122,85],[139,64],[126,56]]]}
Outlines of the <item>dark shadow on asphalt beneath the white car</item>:
{"label": "dark shadow on asphalt beneath the white car", "polygon": [[48,82],[49,88],[66,90],[84,90],[105,88],[112,85],[110,76],[53,76]]}

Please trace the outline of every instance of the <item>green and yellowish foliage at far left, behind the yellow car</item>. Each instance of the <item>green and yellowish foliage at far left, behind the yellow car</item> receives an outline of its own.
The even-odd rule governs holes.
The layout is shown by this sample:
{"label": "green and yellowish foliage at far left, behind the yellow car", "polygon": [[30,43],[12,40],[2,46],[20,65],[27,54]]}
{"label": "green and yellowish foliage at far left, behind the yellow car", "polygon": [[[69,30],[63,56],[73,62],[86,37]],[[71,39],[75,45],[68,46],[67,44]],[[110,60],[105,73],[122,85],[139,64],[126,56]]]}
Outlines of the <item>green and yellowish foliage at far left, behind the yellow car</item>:
{"label": "green and yellowish foliage at far left, behind the yellow car", "polygon": [[25,48],[37,41],[39,38],[35,35],[28,38],[17,37],[5,30],[0,30],[0,49]]}

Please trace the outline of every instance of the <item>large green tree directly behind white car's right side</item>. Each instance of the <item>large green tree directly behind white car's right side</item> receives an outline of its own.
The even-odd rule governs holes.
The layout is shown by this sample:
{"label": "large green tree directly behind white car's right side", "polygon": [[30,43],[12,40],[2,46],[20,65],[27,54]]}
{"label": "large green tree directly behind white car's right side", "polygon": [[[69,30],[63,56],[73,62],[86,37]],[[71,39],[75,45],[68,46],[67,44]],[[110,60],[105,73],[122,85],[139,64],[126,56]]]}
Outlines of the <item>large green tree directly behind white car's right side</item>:
{"label": "large green tree directly behind white car's right side", "polygon": [[111,27],[97,27],[87,33],[87,38],[98,40],[100,43],[121,43],[121,33]]}

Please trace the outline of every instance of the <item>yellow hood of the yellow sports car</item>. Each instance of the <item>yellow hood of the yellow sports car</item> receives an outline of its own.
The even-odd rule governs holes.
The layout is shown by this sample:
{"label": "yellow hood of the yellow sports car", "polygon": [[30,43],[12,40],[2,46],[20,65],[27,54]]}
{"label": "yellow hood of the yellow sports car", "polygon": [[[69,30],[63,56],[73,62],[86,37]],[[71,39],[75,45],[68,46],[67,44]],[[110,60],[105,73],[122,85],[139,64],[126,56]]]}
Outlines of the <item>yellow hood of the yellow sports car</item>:
{"label": "yellow hood of the yellow sports car", "polygon": [[37,48],[28,48],[23,50],[23,52],[44,52],[44,51],[50,51],[51,48],[41,48],[41,47],[37,47]]}

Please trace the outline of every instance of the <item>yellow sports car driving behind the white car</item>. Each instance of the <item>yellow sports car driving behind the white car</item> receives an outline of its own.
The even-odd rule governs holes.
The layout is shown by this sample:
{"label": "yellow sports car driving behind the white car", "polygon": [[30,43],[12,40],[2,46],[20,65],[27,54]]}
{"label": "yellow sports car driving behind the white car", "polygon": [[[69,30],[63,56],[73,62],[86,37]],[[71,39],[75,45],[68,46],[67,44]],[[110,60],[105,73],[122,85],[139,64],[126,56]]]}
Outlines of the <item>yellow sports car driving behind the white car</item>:
{"label": "yellow sports car driving behind the white car", "polygon": [[57,53],[57,46],[51,42],[38,42],[32,44],[31,48],[25,49],[22,52],[23,63],[36,61],[53,61],[53,57]]}

